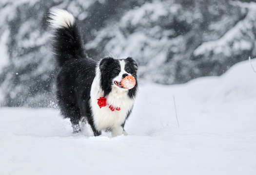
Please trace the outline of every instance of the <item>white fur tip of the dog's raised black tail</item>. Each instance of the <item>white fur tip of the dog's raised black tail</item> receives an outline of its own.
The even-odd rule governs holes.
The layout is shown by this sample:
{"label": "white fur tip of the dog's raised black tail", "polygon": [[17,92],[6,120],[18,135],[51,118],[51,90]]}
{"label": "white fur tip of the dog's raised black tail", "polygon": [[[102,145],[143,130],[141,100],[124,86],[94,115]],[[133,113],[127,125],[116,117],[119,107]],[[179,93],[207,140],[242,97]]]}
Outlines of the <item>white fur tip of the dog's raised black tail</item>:
{"label": "white fur tip of the dog's raised black tail", "polygon": [[66,10],[53,8],[50,10],[49,20],[52,28],[68,28],[74,25],[74,16]]}

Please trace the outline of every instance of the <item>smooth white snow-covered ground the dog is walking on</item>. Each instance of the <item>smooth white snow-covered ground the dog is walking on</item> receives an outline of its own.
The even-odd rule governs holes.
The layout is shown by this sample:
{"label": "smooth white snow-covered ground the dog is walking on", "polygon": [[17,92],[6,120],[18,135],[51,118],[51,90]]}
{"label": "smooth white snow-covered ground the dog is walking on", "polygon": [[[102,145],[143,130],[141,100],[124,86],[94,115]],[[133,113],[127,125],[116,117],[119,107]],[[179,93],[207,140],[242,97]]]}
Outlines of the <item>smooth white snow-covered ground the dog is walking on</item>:
{"label": "smooth white snow-covered ground the dog is walking on", "polygon": [[129,136],[72,134],[57,109],[0,108],[0,175],[256,175],[255,106],[244,61],[220,77],[140,85]]}

